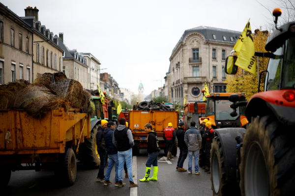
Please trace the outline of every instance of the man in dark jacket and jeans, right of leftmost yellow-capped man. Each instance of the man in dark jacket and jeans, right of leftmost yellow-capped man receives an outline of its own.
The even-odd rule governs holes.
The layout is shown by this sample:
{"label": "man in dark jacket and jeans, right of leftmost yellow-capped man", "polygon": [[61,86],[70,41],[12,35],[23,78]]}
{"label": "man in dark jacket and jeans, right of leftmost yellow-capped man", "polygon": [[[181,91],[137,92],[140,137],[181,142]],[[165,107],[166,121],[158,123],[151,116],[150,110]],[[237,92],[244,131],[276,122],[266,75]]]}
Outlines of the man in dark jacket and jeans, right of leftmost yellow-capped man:
{"label": "man in dark jacket and jeans, right of leftmost yellow-capped man", "polygon": [[[119,181],[118,181],[118,166],[119,166],[119,161],[118,161],[118,150],[113,144],[113,135],[114,135],[114,129],[115,129],[115,123],[110,121],[107,124],[107,128],[104,130],[104,139],[106,143],[106,148],[109,156],[109,165],[107,168],[106,176],[105,176],[105,183],[104,185],[110,185],[112,182],[110,181],[110,176],[111,176],[111,171],[114,167],[114,164],[116,165],[116,183],[115,186],[119,186]],[[123,183],[126,185],[126,183]]]}

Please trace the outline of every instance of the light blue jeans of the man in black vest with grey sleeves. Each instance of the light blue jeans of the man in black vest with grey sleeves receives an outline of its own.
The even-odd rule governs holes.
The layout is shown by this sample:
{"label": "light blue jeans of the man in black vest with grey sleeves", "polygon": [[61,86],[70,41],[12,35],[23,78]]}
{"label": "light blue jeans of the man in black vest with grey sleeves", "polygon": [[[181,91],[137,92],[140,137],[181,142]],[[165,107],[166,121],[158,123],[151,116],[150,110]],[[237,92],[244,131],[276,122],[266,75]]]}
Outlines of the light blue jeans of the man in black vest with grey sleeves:
{"label": "light blue jeans of the man in black vest with grey sleeves", "polygon": [[132,174],[132,148],[126,151],[118,151],[118,181],[122,182],[122,172],[124,168],[124,163],[126,162],[128,178],[130,182],[133,182],[133,174]]}

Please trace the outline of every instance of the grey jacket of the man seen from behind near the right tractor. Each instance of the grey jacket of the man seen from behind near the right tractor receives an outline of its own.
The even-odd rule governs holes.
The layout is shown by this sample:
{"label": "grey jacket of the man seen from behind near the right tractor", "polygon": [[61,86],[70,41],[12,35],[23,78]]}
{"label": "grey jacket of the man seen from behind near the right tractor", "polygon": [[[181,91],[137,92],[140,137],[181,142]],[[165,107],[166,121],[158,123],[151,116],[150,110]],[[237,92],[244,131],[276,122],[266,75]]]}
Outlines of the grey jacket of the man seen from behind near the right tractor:
{"label": "grey jacket of the man seen from behind near the right tractor", "polygon": [[199,130],[196,127],[190,127],[184,135],[184,142],[187,145],[189,151],[197,151],[202,146],[202,137]]}

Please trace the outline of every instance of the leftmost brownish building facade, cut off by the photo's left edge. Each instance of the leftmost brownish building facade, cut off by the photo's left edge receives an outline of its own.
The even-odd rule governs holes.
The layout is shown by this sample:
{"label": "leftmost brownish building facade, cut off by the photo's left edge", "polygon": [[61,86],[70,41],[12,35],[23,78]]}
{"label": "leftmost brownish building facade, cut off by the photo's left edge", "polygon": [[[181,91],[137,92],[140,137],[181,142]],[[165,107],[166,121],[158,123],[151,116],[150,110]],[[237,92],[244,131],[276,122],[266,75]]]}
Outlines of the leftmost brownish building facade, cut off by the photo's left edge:
{"label": "leftmost brownish building facade, cut off by the photo's left edge", "polygon": [[0,3],[0,84],[32,82],[32,38],[31,27]]}

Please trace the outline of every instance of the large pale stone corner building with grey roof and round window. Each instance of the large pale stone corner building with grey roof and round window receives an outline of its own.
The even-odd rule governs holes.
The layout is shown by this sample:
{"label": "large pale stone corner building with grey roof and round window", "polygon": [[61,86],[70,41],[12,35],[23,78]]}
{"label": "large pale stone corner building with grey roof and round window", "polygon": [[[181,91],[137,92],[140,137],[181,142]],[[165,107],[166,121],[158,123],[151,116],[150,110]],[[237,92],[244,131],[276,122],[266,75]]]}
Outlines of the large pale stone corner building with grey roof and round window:
{"label": "large pale stone corner building with grey roof and round window", "polygon": [[170,56],[164,88],[168,100],[182,102],[185,94],[187,102],[201,100],[205,81],[209,92],[225,92],[225,59],[240,33],[205,26],[185,30]]}

